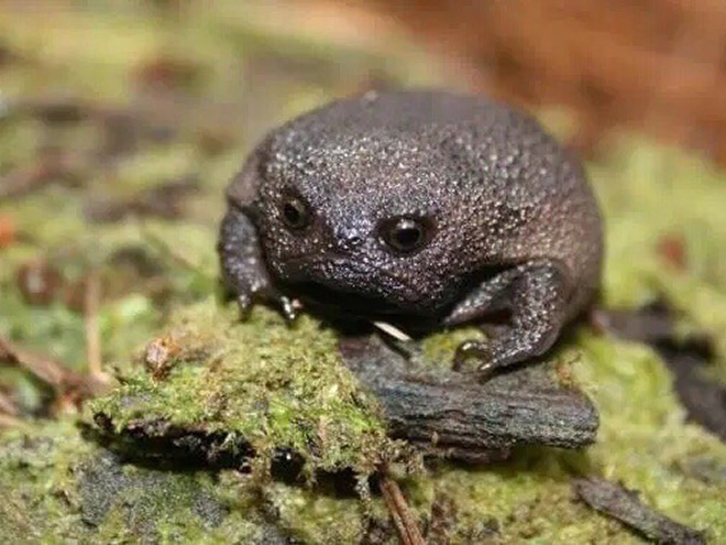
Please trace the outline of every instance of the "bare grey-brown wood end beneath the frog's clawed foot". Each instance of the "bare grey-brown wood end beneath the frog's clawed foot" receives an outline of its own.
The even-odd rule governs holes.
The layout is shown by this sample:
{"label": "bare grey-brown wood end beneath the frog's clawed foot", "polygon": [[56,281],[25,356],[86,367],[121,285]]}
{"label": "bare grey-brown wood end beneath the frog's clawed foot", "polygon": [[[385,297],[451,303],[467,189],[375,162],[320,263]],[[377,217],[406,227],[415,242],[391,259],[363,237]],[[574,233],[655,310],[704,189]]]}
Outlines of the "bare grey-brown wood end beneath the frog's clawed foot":
{"label": "bare grey-brown wood end beneath the frog's clawed foot", "polygon": [[471,374],[421,369],[375,336],[344,338],[340,349],[381,401],[392,435],[435,454],[476,461],[517,445],[578,448],[595,440],[597,411],[558,384],[550,363],[479,383]]}

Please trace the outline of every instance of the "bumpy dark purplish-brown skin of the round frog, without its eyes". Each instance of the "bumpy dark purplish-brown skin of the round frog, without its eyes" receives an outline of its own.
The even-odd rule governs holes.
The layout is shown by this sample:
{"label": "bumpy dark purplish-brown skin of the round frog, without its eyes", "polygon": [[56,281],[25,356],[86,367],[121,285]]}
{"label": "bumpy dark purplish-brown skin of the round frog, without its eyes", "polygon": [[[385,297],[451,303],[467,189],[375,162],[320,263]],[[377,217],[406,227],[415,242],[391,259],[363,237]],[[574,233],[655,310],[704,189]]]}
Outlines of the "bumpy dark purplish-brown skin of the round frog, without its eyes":
{"label": "bumpy dark purplish-brown skin of the round frog, without its eyes", "polygon": [[[602,225],[580,164],[531,118],[471,96],[369,94],[273,131],[229,192],[224,281],[243,308],[302,306],[405,330],[505,318],[458,361],[482,370],[547,351],[592,299]],[[290,229],[284,203],[302,203]],[[399,253],[392,222],[425,243]]]}

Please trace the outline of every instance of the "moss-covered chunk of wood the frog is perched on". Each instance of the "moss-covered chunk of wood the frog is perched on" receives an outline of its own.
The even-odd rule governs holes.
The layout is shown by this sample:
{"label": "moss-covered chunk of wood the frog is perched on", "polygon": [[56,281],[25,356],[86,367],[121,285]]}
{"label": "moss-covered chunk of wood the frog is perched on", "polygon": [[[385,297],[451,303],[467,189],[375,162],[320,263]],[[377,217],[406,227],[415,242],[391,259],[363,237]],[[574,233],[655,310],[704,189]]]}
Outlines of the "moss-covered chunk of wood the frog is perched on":
{"label": "moss-covered chunk of wood the frog is perched on", "polygon": [[341,335],[309,316],[290,326],[265,308],[240,321],[209,301],[179,310],[88,413],[122,450],[211,465],[270,465],[285,453],[310,478],[414,464],[416,450],[396,438],[465,460],[595,439],[597,413],[565,361],[479,383],[451,370],[462,335],[472,331],[411,342],[418,356],[404,358],[377,336]]}

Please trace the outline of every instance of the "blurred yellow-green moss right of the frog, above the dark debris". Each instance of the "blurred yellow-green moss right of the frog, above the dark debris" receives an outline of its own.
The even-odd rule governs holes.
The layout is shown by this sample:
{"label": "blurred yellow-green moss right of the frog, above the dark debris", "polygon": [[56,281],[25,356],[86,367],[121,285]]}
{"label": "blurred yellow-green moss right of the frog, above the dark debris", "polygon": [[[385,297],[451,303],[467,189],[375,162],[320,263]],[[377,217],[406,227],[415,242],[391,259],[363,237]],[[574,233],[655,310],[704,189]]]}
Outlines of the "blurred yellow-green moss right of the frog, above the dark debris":
{"label": "blurred yellow-green moss right of the frog, above the dark debris", "polygon": [[588,170],[607,225],[605,303],[667,298],[686,325],[711,334],[726,380],[726,174],[634,138],[615,141]]}

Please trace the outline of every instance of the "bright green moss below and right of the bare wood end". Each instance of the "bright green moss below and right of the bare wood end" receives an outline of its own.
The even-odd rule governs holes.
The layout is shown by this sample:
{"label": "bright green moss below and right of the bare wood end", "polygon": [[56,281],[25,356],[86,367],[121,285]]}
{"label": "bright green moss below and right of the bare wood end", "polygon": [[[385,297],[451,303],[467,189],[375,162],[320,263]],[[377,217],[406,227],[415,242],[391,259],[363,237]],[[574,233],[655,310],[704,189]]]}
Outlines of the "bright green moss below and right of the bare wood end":
{"label": "bright green moss below and right of the bare wood end", "polygon": [[[726,480],[708,477],[722,475],[726,445],[685,422],[659,358],[642,346],[586,331],[562,347],[560,358],[572,361],[574,380],[598,407],[597,443],[582,453],[522,448],[512,461],[488,468],[435,466],[404,487],[420,519],[435,501],[450,498],[451,543],[639,542],[575,501],[572,478],[595,472],[641,491],[648,504],[705,530],[713,543],[726,539]],[[703,460],[711,473],[691,469]]]}

